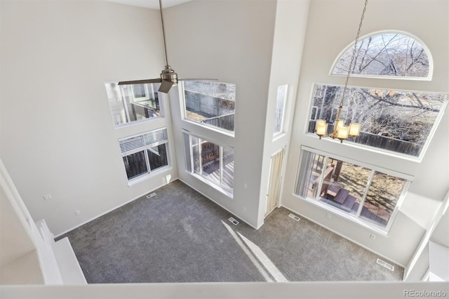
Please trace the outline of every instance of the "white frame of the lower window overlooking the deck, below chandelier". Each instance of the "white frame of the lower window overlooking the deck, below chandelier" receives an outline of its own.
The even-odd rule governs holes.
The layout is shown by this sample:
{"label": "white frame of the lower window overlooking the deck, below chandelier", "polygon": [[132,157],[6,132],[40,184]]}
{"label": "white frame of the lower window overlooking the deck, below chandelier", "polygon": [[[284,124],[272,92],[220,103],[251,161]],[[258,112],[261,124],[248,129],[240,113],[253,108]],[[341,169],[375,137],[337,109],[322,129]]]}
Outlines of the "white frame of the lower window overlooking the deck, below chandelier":
{"label": "white frame of the lower window overlooking the deck, below chandelier", "polygon": [[[314,198],[307,197],[307,196],[306,197],[302,197],[302,195],[295,193],[296,190],[297,190],[297,184],[299,183],[298,180],[299,180],[299,177],[300,177],[300,171],[304,171],[304,170],[301,169],[301,161],[302,161],[302,158],[303,158],[303,155],[302,155],[303,151],[313,152],[314,154],[320,154],[320,155],[324,156],[326,159],[324,159],[323,165],[327,165],[327,161],[328,161],[329,157],[332,157],[334,159],[339,159],[340,161],[344,161],[344,162],[347,162],[347,163],[350,163],[350,164],[355,164],[357,166],[361,166],[361,167],[370,169],[370,176],[368,178],[368,182],[366,183],[365,191],[364,191],[363,197],[361,198],[360,205],[358,206],[358,211],[357,211],[357,213],[355,215],[350,213],[350,212],[344,211],[341,208],[337,208],[335,206],[332,206],[330,204],[327,204],[327,203],[321,201],[320,200],[321,197],[320,197],[319,193],[317,193]],[[365,204],[366,197],[367,197],[367,194],[368,194],[368,190],[369,190],[370,184],[371,184],[371,182],[373,180],[373,175],[376,172],[385,173],[387,175],[393,175],[396,178],[401,178],[401,179],[406,180],[406,183],[405,183],[405,185],[403,187],[401,195],[398,197],[398,201],[396,202],[396,206],[394,207],[394,210],[391,212],[391,216],[389,218],[389,221],[387,222],[387,225],[384,228],[380,227],[379,225],[375,225],[372,222],[369,222],[369,221],[364,220],[363,218],[359,217],[359,215],[361,214],[361,209],[363,208],[363,205]],[[324,175],[324,171],[320,174],[320,177],[319,177],[320,178],[320,182],[319,182],[318,190],[321,190],[321,186],[323,184],[323,179],[324,179],[323,175]],[[354,223],[356,223],[358,225],[366,227],[366,228],[368,228],[370,230],[373,230],[374,232],[377,232],[379,234],[383,234],[383,235],[387,236],[388,233],[389,233],[389,230],[391,229],[391,226],[394,223],[394,220],[396,219],[396,215],[398,214],[398,211],[400,210],[400,208],[401,208],[401,206],[403,204],[403,201],[406,198],[406,194],[408,192],[410,184],[413,182],[413,179],[414,179],[413,175],[408,175],[406,173],[400,173],[398,171],[393,171],[391,169],[382,168],[382,167],[379,167],[379,166],[375,166],[373,164],[365,163],[363,161],[357,161],[357,160],[354,160],[354,159],[351,159],[351,158],[342,157],[342,156],[337,155],[337,154],[333,154],[333,153],[330,153],[330,152],[324,152],[322,150],[317,150],[317,149],[314,149],[314,148],[302,145],[301,148],[300,148],[300,159],[299,159],[298,165],[297,165],[297,171],[296,171],[296,175],[295,175],[295,187],[294,187],[294,190],[292,192],[292,195],[293,195],[293,197],[296,197],[296,198],[302,199],[304,201],[310,202],[310,203],[312,203],[312,204],[314,204],[316,206],[319,206],[320,208],[324,208],[326,211],[330,211],[330,212],[332,212],[334,214],[340,215],[342,218],[350,220],[351,222],[354,222]]]}

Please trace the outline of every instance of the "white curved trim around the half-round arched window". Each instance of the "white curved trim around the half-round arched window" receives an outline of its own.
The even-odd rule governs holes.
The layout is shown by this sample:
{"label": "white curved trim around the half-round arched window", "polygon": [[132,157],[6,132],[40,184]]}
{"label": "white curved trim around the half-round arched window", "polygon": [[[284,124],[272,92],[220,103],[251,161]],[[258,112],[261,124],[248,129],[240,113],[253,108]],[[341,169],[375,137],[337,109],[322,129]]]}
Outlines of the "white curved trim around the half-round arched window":
{"label": "white curved trim around the half-round arched window", "polygon": [[[371,79],[394,79],[394,80],[413,80],[413,81],[431,81],[433,74],[434,74],[434,59],[432,58],[431,52],[429,51],[429,47],[427,47],[424,42],[417,38],[417,36],[410,34],[405,31],[401,30],[380,30],[375,32],[370,32],[368,34],[365,34],[360,37],[359,41],[363,41],[363,39],[367,39],[370,36],[377,35],[377,34],[402,34],[405,36],[410,37],[411,39],[415,39],[415,41],[419,42],[424,51],[426,52],[427,58],[429,60],[429,74],[427,74],[427,77],[394,77],[394,76],[381,76],[381,75],[363,75],[363,74],[351,74],[351,77],[359,77],[359,78],[371,78]],[[354,48],[354,41],[351,41],[351,44],[344,47],[343,50],[337,55],[337,58],[335,58],[332,67],[330,67],[329,76],[335,76],[335,77],[346,77],[345,74],[332,74],[333,69],[335,68],[335,65],[339,62],[340,58],[344,53],[346,53],[349,49]],[[379,89],[379,88],[377,88]]]}

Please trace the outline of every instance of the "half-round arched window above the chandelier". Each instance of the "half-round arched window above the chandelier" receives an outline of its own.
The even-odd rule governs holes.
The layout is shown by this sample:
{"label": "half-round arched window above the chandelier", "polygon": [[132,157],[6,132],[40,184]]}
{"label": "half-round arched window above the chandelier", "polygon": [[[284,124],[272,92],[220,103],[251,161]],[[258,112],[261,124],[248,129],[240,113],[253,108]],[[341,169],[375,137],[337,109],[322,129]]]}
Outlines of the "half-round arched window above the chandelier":
{"label": "half-round arched window above the chandelier", "polygon": [[[331,74],[347,74],[353,51],[351,44],[337,59]],[[382,32],[358,41],[351,75],[431,79],[431,62],[429,51],[416,38],[398,32]]]}

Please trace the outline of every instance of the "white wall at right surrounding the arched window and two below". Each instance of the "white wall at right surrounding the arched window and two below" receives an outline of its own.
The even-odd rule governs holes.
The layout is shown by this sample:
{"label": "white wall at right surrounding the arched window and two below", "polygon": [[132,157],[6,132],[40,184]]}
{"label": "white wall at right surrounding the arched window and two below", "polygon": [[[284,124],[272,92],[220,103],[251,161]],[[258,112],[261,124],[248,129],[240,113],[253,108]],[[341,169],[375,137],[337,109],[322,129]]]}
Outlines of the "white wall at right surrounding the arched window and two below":
{"label": "white wall at right surrounding the arched window and two below", "polygon": [[[448,93],[448,5],[445,0],[370,1],[361,35],[396,29],[417,36],[428,46],[433,56],[434,77],[431,81],[351,78],[349,85]],[[304,134],[309,118],[312,84],[344,84],[344,77],[331,77],[328,74],[340,51],[354,41],[362,8],[363,1],[311,1],[282,203],[400,265],[407,265],[425,232],[425,225],[431,221],[439,206],[438,202],[443,200],[449,188],[449,113],[443,115],[421,162],[360,150],[333,140],[318,140],[314,135]],[[370,230],[336,215],[328,219],[327,212],[322,208],[293,196],[301,145],[415,176],[409,190],[413,196],[410,200],[405,199],[387,237],[377,235],[375,240],[371,240],[370,234],[373,232]],[[420,202],[420,211],[426,213],[416,212],[417,206],[413,204],[416,201]]]}

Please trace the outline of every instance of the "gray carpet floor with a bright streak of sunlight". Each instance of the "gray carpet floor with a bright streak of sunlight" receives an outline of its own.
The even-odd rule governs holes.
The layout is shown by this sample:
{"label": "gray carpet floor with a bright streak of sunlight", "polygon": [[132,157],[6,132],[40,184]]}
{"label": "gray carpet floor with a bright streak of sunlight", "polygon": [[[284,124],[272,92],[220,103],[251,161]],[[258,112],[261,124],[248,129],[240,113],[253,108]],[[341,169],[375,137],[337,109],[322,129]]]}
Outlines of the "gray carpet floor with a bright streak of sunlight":
{"label": "gray carpet floor with a bright streak of sunlight", "polygon": [[403,277],[402,267],[387,270],[374,253],[307,219],[289,218],[286,208],[255,230],[232,224],[234,215],[179,180],[154,192],[58,238],[69,237],[88,283]]}

